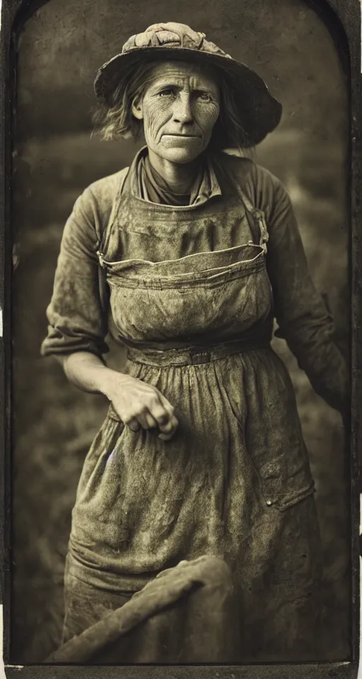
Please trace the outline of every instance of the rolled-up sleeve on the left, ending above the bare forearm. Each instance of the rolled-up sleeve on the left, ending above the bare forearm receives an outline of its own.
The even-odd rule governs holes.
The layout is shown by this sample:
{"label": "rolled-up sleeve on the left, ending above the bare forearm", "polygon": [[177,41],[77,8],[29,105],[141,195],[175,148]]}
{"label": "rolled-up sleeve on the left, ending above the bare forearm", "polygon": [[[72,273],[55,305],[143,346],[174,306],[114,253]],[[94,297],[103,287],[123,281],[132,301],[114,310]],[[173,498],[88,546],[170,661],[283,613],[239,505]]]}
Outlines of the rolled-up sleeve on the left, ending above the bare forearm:
{"label": "rolled-up sleeve on the left, ending above the bare forearm", "polygon": [[91,187],[78,198],[64,227],[42,356],[108,351],[107,311],[98,273],[100,214]]}

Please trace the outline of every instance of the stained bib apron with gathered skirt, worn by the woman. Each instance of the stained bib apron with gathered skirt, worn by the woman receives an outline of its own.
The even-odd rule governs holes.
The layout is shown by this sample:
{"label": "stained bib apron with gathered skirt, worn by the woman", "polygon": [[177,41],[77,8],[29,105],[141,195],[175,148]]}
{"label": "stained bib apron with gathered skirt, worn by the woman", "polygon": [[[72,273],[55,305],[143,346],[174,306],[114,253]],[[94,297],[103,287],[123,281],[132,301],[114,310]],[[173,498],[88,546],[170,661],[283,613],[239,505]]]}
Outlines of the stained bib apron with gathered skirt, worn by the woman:
{"label": "stained bib apron with gathered skirt, worn by the woman", "polygon": [[[315,634],[321,562],[296,398],[270,347],[267,224],[237,186],[216,221],[212,200],[149,204],[133,181],[129,171],[98,256],[126,372],[158,388],[180,424],[162,441],[110,405],[78,485],[67,568],[132,593],[182,559],[220,557],[246,655],[283,659]],[[219,229],[211,251],[200,224]],[[235,224],[243,245],[228,240]]]}

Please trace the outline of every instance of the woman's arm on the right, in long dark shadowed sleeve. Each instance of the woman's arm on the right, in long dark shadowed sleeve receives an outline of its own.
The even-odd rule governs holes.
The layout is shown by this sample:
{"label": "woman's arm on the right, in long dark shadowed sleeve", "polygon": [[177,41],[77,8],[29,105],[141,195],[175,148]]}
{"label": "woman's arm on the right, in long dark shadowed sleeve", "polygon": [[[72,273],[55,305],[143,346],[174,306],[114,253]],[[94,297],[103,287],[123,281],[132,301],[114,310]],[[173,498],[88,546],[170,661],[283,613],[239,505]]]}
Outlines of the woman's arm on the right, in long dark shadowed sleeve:
{"label": "woman's arm on the right, in long dark shadowed sleeve", "polygon": [[278,335],[286,340],[317,394],[346,417],[349,371],[332,339],[333,319],[310,277],[291,199],[279,180],[269,175],[265,181],[269,194],[264,206],[269,231],[267,269]]}

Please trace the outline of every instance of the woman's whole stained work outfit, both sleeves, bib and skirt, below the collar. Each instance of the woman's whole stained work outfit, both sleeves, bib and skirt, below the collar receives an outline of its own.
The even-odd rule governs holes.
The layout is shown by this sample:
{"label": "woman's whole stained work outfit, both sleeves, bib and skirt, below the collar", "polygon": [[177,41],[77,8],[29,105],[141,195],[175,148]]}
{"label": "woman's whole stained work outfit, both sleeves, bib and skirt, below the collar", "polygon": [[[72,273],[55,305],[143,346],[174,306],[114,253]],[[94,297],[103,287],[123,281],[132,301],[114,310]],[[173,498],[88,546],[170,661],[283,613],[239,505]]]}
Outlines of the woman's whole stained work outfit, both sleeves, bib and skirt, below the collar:
{"label": "woman's whole stained work outfit, both sleeves, bib and skirt, below the collar", "polygon": [[[315,390],[343,410],[347,373],[332,319],[290,200],[267,170],[220,154],[216,195],[160,205],[138,192],[145,153],[78,199],[42,352],[107,349],[100,263],[130,347],[126,371],[155,385],[180,424],[161,441],[130,431],[110,406],[78,485],[69,577],[132,593],[181,559],[221,557],[245,654],[296,659],[299,649],[305,659],[300,630],[311,648],[319,625],[320,535],[296,397],[269,342],[276,317]],[[235,340],[245,340],[240,352],[213,353]]]}

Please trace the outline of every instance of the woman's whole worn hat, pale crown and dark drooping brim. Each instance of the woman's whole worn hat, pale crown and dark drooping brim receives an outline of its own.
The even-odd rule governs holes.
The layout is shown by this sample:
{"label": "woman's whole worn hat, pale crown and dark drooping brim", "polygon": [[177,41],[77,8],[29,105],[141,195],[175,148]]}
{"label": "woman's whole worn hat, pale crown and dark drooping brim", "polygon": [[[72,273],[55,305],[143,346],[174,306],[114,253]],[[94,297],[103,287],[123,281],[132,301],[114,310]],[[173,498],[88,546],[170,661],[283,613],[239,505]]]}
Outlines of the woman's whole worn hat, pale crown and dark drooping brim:
{"label": "woman's whole worn hat, pale crown and dark drooping brim", "polygon": [[280,122],[281,104],[271,96],[262,78],[214,42],[206,40],[204,33],[197,33],[182,23],[158,23],[149,26],[144,33],[132,35],[124,43],[122,52],[100,67],[94,83],[96,96],[109,103],[127,71],[150,59],[191,61],[223,72],[234,90],[240,120],[247,134],[247,146],[259,144]]}

